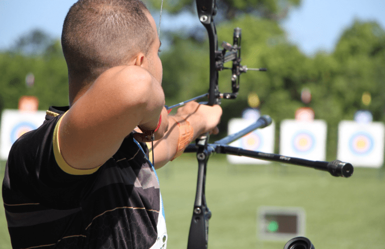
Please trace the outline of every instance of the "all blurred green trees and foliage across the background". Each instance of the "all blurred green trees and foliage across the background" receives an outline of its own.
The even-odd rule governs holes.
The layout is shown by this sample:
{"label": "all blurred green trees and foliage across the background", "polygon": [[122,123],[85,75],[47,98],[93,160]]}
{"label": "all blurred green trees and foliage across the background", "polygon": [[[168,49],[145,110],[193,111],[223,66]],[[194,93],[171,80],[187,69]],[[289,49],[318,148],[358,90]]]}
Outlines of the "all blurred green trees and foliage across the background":
{"label": "all blurred green trees and foliage across the background", "polygon": [[[377,23],[356,20],[343,32],[333,52],[308,57],[288,42],[279,25],[292,6],[301,4],[300,0],[226,0],[217,4],[219,43],[232,43],[233,29],[242,28],[242,64],[268,69],[241,75],[237,100],[223,101],[222,136],[226,134],[228,120],[240,117],[248,107],[249,93],[258,94],[262,114],[269,114],[279,123],[282,119],[293,119],[295,110],[305,106],[301,91],[310,89],[312,101],[306,106],[314,109],[316,119],[324,119],[328,124],[328,159],[336,155],[340,120],[353,119],[355,111],[368,109],[374,121],[385,121],[385,31]],[[158,9],[160,1],[151,0],[150,5]],[[163,8],[171,15],[196,12],[191,0],[167,1]],[[168,44],[160,53],[167,105],[207,92],[206,37],[202,25],[187,33],[161,30],[161,39]],[[32,88],[25,84],[30,72],[35,76]],[[230,76],[230,71],[220,72],[221,92],[230,91]],[[0,109],[17,108],[23,95],[36,96],[42,110],[51,105],[68,105],[67,68],[60,40],[44,31],[32,30],[20,37],[14,48],[1,51],[0,88]],[[372,98],[368,106],[361,100],[364,92]]]}

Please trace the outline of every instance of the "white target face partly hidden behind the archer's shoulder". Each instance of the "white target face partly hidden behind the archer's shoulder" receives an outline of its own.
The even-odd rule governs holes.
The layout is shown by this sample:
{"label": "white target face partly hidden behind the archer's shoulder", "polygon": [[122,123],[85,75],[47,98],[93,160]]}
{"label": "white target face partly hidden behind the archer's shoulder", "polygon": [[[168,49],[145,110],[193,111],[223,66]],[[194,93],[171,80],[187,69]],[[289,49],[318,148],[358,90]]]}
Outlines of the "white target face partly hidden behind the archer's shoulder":
{"label": "white target face partly hidden behind the archer's shoulder", "polygon": [[3,110],[0,126],[0,158],[6,160],[12,144],[23,134],[37,129],[45,116],[45,111]]}

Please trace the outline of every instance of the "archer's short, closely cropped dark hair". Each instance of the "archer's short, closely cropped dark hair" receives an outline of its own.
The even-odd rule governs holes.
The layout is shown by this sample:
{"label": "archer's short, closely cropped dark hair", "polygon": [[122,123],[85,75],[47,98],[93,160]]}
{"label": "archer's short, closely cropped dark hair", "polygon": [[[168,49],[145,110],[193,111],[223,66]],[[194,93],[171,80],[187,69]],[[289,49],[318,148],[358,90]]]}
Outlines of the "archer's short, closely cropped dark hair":
{"label": "archer's short, closely cropped dark hair", "polygon": [[61,38],[69,75],[89,83],[137,53],[147,54],[155,36],[146,12],[140,0],[76,2],[64,20]]}

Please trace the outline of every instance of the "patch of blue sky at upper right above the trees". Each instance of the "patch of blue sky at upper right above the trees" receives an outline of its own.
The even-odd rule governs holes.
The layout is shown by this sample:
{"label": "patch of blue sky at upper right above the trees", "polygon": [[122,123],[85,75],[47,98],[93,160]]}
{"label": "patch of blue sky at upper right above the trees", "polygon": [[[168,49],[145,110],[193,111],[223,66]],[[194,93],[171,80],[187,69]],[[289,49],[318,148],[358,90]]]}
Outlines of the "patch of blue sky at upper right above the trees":
{"label": "patch of blue sky at upper right above the trees", "polygon": [[282,27],[306,54],[331,52],[355,19],[376,21],[385,29],[385,0],[303,0]]}

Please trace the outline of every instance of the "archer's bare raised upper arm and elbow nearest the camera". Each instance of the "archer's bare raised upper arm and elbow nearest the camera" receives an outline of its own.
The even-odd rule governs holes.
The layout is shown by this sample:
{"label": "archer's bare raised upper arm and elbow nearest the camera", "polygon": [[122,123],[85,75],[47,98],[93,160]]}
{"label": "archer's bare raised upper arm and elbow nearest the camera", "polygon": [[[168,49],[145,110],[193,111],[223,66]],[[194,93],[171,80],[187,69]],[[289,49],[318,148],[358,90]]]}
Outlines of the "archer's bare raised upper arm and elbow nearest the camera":
{"label": "archer's bare raised upper arm and elbow nearest the camera", "polygon": [[136,126],[152,119],[156,126],[164,95],[160,84],[146,72],[136,66],[112,68],[71,106],[58,127],[67,164],[75,169],[96,168]]}

